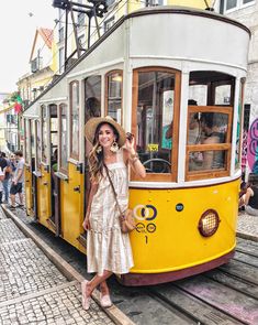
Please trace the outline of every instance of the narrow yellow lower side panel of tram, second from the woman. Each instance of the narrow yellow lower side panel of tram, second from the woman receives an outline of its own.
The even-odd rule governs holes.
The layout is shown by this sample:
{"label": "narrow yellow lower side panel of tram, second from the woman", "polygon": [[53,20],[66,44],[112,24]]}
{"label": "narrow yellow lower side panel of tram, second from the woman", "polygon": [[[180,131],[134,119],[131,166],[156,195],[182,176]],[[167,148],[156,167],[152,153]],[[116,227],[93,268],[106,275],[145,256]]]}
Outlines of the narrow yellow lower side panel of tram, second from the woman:
{"label": "narrow yellow lower side panel of tram, second from the woman", "polygon": [[46,171],[44,165],[40,169],[41,177],[37,178],[37,217],[38,221],[52,231],[47,219],[52,215],[51,210],[51,173]]}

